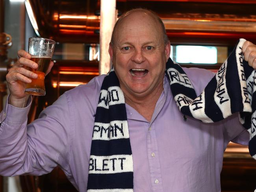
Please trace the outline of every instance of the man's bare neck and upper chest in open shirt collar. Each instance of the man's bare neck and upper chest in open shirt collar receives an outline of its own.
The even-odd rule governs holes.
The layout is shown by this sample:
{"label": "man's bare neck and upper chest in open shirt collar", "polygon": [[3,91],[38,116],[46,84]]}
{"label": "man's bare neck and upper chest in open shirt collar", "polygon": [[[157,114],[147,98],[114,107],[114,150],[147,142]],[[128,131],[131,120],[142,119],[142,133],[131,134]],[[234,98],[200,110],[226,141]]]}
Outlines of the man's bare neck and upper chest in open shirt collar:
{"label": "man's bare neck and upper chest in open shirt collar", "polygon": [[145,117],[148,122],[151,121],[156,102],[163,92],[163,85],[157,87],[157,89],[146,96],[139,96],[124,92],[125,102],[133,107],[139,114]]}

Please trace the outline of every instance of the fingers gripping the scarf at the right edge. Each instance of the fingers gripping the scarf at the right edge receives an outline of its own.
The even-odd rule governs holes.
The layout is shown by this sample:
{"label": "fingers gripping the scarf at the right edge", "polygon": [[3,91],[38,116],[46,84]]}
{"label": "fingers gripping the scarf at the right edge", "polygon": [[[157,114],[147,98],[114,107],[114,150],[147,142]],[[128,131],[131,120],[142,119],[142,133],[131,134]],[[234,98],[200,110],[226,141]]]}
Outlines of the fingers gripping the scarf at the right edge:
{"label": "fingers gripping the scarf at the right edge", "polygon": [[245,61],[248,61],[249,65],[256,69],[256,45],[246,41],[243,44],[242,53]]}

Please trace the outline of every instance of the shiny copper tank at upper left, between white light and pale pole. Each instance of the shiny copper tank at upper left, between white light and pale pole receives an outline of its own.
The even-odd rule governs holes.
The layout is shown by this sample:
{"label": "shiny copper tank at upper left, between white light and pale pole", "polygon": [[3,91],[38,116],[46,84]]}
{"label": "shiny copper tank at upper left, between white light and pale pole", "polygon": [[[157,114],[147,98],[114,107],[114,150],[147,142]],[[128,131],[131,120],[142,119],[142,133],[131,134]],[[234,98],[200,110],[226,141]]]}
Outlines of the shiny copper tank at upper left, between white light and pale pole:
{"label": "shiny copper tank at upper left, between white light and pale pole", "polygon": [[42,37],[57,42],[97,43],[100,0],[28,0]]}

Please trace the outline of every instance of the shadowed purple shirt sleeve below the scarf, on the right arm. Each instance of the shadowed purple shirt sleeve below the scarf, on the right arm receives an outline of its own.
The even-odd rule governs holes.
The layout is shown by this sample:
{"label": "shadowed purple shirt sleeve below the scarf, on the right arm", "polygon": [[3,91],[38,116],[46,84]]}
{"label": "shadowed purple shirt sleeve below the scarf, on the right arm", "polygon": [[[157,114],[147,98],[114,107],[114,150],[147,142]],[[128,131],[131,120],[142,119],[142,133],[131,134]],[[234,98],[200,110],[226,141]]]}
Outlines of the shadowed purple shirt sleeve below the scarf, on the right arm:
{"label": "shadowed purple shirt sleeve below the scarf, on the right arm", "polygon": [[226,118],[224,123],[224,143],[232,141],[241,145],[249,144],[249,132],[242,126],[239,121],[239,113],[232,114]]}

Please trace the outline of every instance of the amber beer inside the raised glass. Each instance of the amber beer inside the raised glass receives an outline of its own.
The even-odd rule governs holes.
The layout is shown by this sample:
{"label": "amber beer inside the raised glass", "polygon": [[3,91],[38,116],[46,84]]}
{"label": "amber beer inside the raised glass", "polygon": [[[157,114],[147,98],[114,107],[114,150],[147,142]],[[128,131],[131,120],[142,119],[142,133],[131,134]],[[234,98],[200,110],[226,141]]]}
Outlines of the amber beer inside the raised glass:
{"label": "amber beer inside the raised glass", "polygon": [[26,93],[37,96],[45,95],[45,73],[49,67],[51,58],[32,55],[32,61],[38,64],[37,69],[29,68],[32,72],[38,75],[37,79],[32,79],[31,83],[26,85]]}

